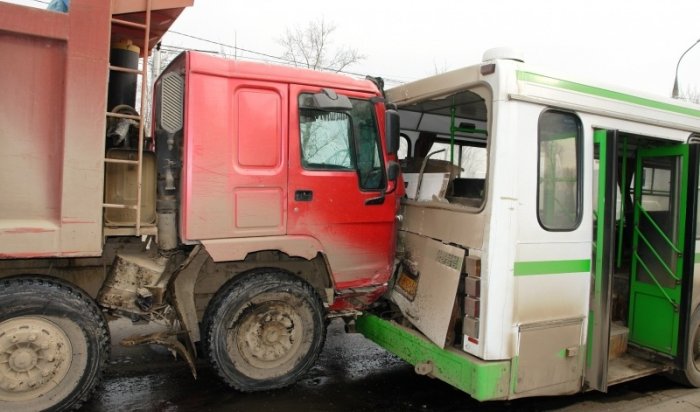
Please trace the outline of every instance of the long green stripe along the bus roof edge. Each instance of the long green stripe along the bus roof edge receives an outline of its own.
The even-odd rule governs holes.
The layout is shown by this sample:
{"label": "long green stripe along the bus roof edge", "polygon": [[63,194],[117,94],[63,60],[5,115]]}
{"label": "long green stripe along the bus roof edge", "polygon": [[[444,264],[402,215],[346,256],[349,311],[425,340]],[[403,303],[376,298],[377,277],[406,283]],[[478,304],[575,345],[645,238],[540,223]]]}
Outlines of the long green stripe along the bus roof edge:
{"label": "long green stripe along the bus roof edge", "polygon": [[700,117],[700,110],[691,109],[688,107],[678,106],[671,103],[651,100],[644,97],[634,96],[627,93],[615,92],[612,90],[603,89],[600,87],[589,86],[586,84],[570,82],[567,80],[557,79],[554,77],[543,76],[541,74],[518,71],[518,80],[539,83],[546,86],[552,86],[559,89],[571,90],[579,93],[585,93],[592,96],[604,97],[606,99],[618,100],[625,103],[637,104],[640,106],[650,107],[652,109],[666,110],[668,112],[685,114],[688,116]]}

